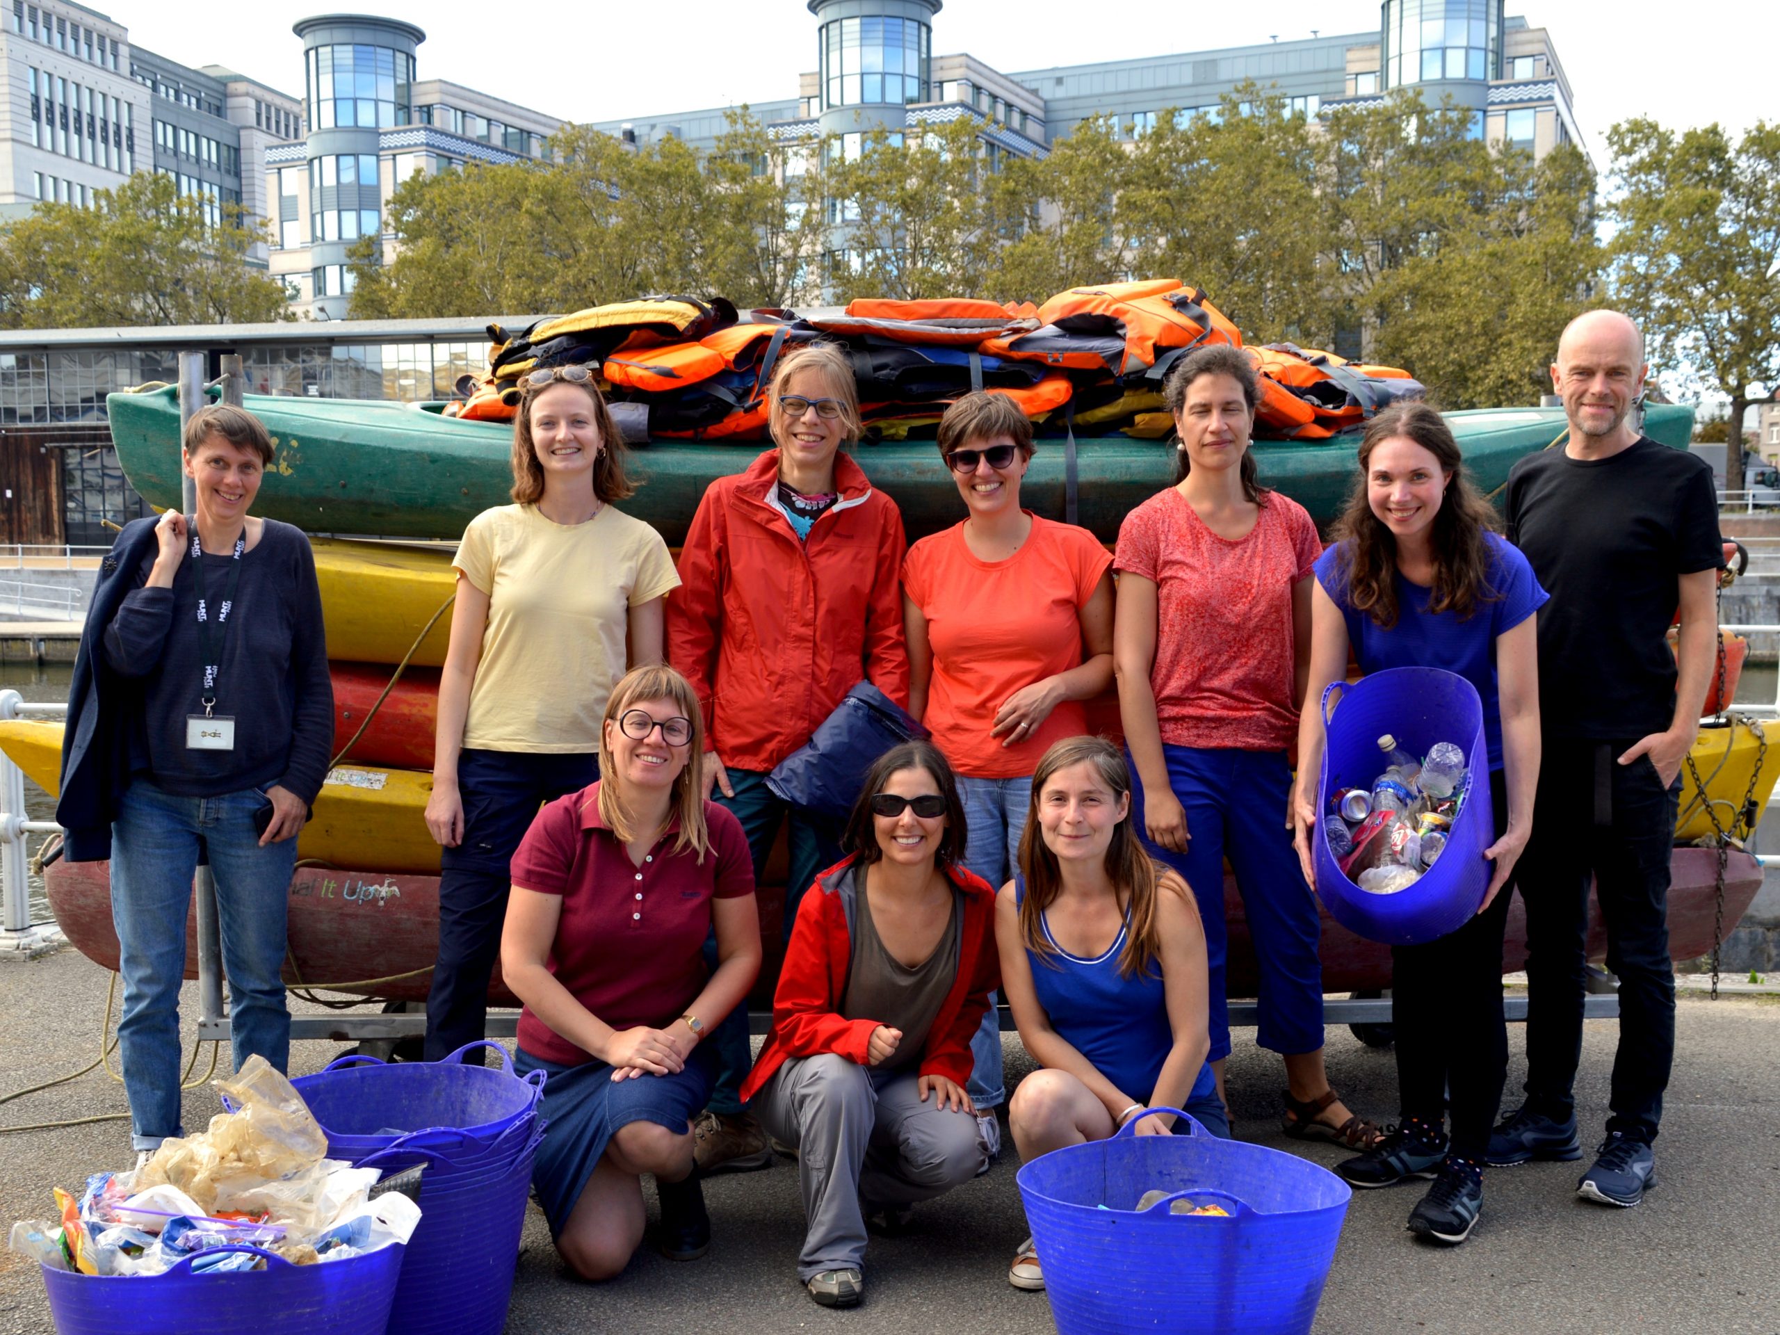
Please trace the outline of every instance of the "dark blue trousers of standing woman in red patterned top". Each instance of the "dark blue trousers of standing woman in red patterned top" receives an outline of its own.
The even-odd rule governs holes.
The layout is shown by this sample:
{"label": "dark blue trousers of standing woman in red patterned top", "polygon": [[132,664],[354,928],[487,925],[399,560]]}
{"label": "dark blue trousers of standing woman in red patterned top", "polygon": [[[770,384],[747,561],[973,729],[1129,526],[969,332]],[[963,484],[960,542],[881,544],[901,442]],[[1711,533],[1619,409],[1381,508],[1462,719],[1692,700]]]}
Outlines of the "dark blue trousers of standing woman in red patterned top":
{"label": "dark blue trousers of standing woman in red patterned top", "polygon": [[[1255,1041],[1285,1056],[1323,1047],[1323,920],[1317,899],[1285,828],[1292,774],[1283,751],[1162,746],[1168,781],[1187,810],[1185,853],[1168,853],[1148,838],[1150,856],[1193,886],[1205,924],[1210,1040],[1207,1061],[1230,1056],[1230,1007],[1225,1000],[1228,934],[1223,862],[1230,856],[1248,931],[1260,968],[1260,1027]],[[1132,819],[1143,829],[1143,780],[1132,765]]]}

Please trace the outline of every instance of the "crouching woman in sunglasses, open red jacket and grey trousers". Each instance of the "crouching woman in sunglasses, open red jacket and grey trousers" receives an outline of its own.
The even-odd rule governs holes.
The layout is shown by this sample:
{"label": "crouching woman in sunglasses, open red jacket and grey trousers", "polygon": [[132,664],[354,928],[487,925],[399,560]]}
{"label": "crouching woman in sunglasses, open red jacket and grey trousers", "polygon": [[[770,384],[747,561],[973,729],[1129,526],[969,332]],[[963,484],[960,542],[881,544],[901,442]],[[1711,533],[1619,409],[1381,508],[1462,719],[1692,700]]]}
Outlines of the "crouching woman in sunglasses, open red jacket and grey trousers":
{"label": "crouching woman in sunglasses, open red jacket and grey trousers", "polygon": [[999,981],[995,894],[959,865],[965,812],[945,756],[929,742],[879,756],[846,842],[851,856],[797,910],[742,1086],[801,1152],[797,1278],[824,1307],[860,1301],[865,1216],[894,1226],[983,1166],[965,1080]]}

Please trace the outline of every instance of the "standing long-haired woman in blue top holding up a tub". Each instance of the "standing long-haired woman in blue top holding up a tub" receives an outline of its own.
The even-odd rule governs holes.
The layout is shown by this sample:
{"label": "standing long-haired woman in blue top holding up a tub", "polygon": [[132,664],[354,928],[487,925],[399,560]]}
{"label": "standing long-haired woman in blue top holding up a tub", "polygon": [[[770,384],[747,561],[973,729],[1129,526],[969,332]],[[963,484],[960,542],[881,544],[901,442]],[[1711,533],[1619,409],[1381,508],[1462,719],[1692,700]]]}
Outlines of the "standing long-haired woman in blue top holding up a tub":
{"label": "standing long-haired woman in blue top holding up a tub", "polygon": [[[1492,532],[1495,522],[1440,413],[1413,402],[1387,408],[1360,443],[1360,482],[1335,545],[1317,561],[1310,611],[1307,701],[1346,675],[1349,648],[1363,673],[1444,668],[1483,698],[1495,810],[1485,856],[1495,870],[1463,927],[1392,947],[1401,1120],[1378,1146],[1335,1166],[1355,1187],[1435,1178],[1410,1232],[1447,1244],[1463,1242],[1483,1210],[1483,1153],[1508,1070],[1502,892],[1527,844],[1540,776],[1534,614],[1547,595],[1527,559]],[[1305,708],[1292,822],[1307,878],[1323,744],[1323,710]],[[1477,756],[1465,762],[1481,780]]]}

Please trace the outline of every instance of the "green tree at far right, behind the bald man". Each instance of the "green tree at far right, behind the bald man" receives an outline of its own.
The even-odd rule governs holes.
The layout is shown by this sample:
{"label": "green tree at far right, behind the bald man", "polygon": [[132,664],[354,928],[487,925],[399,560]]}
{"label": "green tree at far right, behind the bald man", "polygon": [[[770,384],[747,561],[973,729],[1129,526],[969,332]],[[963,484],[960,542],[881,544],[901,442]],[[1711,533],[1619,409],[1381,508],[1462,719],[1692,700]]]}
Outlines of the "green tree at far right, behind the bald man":
{"label": "green tree at far right, behind the bald man", "polygon": [[[1780,123],[1732,142],[1718,125],[1639,117],[1607,146],[1613,297],[1670,388],[1725,395],[1741,433],[1748,406],[1780,392]],[[1725,488],[1743,490],[1743,450],[1727,450]]]}

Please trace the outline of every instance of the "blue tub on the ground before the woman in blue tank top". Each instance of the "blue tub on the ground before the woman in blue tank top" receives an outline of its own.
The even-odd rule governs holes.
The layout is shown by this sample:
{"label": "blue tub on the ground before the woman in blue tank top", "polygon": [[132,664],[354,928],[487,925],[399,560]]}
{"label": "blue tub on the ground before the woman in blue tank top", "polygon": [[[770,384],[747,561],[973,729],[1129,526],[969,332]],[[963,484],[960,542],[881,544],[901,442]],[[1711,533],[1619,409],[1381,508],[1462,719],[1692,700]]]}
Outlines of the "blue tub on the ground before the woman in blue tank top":
{"label": "blue tub on the ground before the woman in blue tank top", "polygon": [[[1020,1168],[1061,1335],[1310,1330],[1353,1193],[1317,1164],[1187,1121],[1191,1136],[1136,1136],[1132,1123]],[[1136,1214],[1153,1189],[1169,1198]],[[1180,1193],[1228,1218],[1169,1214]]]}

